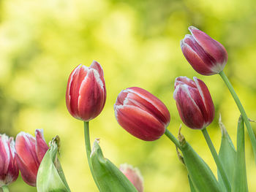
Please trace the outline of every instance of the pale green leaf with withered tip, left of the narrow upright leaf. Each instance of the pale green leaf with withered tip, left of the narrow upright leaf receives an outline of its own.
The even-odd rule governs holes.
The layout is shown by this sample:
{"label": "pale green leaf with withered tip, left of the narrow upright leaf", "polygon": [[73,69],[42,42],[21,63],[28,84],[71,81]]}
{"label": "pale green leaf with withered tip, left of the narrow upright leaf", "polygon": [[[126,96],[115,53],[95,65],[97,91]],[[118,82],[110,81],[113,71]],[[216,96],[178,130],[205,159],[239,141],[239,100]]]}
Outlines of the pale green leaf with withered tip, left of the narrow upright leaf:
{"label": "pale green leaf with withered tip, left of the narrow upright leaf", "polygon": [[[227,178],[230,183],[233,180],[234,167],[236,166],[236,149],[230,139],[227,129],[222,123],[221,115],[219,114],[219,127],[222,131],[222,142],[219,148],[219,160],[222,162],[223,168],[227,174]],[[222,190],[225,190],[225,185],[223,183],[222,177],[218,170],[219,183],[222,186]]]}

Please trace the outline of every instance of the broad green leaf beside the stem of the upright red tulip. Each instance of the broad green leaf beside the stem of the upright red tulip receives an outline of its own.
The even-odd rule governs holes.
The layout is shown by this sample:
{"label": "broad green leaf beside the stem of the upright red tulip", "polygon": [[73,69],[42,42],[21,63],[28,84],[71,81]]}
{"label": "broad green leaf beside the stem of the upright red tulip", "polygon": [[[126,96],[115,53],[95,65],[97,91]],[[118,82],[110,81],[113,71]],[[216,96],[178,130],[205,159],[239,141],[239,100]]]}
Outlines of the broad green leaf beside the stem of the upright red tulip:
{"label": "broad green leaf beside the stem of the upright red tulip", "polygon": [[108,158],[104,158],[99,147],[99,141],[94,141],[91,150],[91,164],[101,191],[108,192],[138,192],[127,177]]}

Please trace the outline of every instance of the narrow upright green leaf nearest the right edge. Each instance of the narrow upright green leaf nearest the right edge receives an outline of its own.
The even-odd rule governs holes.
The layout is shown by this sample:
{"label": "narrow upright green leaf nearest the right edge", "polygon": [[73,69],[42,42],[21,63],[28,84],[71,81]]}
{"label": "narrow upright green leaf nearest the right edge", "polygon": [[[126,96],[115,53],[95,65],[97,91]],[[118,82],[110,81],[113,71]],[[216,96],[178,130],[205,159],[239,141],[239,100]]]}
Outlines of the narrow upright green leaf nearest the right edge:
{"label": "narrow upright green leaf nearest the right edge", "polygon": [[232,191],[234,192],[247,192],[247,178],[246,178],[246,163],[244,153],[244,120],[240,116],[237,128],[237,153],[236,153],[236,166],[233,177]]}

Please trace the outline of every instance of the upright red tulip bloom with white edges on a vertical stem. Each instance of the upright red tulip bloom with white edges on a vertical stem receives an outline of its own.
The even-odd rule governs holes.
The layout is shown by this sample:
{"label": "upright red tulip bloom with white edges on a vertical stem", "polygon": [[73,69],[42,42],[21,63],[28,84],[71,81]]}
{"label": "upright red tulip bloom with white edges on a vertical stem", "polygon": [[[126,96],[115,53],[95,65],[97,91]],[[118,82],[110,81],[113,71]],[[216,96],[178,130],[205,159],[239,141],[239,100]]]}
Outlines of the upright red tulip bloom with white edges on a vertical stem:
{"label": "upright red tulip bloom with white edges on a vertical stem", "polygon": [[91,66],[77,66],[69,75],[66,104],[69,113],[79,120],[89,121],[102,112],[106,101],[102,66],[93,61]]}

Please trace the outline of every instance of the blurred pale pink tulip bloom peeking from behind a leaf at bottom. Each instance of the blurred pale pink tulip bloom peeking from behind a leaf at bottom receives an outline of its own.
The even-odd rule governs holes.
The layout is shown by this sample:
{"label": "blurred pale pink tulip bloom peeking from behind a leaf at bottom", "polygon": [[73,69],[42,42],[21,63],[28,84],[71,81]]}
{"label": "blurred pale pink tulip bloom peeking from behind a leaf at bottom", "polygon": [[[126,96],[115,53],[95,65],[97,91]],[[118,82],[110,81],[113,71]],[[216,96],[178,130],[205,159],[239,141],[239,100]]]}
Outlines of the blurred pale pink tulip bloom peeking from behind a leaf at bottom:
{"label": "blurred pale pink tulip bloom peeking from behind a leaf at bottom", "polygon": [[128,164],[121,164],[119,169],[125,176],[127,176],[128,180],[135,185],[138,192],[143,192],[143,177],[140,174],[139,169],[133,168]]}

